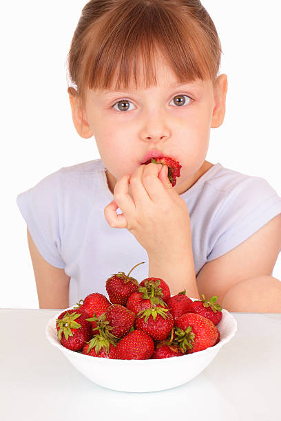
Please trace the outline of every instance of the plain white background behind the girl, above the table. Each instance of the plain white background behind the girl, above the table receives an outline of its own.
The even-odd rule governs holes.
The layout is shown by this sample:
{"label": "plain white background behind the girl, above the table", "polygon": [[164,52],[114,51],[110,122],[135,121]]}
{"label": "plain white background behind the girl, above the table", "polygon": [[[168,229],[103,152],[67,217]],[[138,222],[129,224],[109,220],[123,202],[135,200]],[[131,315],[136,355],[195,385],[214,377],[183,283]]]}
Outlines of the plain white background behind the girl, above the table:
{"label": "plain white background behind the girl, above the table", "polygon": [[[26,224],[16,198],[62,166],[100,158],[72,123],[65,60],[85,1],[1,4],[0,307],[38,308]],[[281,196],[280,15],[257,0],[205,0],[229,81],[225,122],[207,160],[264,177]],[[267,252],[267,245],[264,245]],[[281,279],[280,257],[273,276]]]}

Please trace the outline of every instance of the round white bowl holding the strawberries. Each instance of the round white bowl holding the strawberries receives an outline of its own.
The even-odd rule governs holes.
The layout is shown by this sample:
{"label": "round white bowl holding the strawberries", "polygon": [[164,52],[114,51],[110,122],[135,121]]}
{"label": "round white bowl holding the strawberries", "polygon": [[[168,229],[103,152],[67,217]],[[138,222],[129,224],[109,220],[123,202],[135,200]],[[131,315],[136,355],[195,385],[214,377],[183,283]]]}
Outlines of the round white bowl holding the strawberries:
{"label": "round white bowl holding the strawberries", "polygon": [[[194,301],[194,299],[192,299]],[[75,306],[65,310],[72,310]],[[220,342],[204,351],[180,357],[149,360],[112,360],[71,351],[61,345],[56,331],[56,314],[45,327],[45,334],[78,371],[97,385],[127,392],[149,392],[171,389],[183,385],[198,376],[220,351],[220,348],[236,334],[236,319],[222,309]]]}

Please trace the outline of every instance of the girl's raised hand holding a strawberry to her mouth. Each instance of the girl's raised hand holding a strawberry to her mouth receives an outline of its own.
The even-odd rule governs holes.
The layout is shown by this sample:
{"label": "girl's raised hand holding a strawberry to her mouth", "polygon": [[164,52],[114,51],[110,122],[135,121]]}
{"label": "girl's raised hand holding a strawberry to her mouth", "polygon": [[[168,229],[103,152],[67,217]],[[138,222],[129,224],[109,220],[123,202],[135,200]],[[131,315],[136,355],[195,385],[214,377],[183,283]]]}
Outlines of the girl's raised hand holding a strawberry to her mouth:
{"label": "girl's raised hand holding a strawberry to her mouth", "polygon": [[[187,205],[167,173],[167,165],[150,163],[139,166],[132,175],[123,175],[116,182],[114,200],[104,210],[107,223],[112,228],[127,228],[149,257],[191,249]],[[117,208],[123,213],[117,215]]]}

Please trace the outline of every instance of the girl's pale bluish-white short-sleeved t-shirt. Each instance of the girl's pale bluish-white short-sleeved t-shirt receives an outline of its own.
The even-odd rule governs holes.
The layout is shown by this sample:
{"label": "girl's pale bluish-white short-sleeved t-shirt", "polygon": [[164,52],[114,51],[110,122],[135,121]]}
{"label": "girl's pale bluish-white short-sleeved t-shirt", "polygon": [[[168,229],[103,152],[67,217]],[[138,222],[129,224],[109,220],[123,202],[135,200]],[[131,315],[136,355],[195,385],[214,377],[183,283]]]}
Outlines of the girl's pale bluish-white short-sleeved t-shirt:
{"label": "girl's pale bluish-white short-sleeved t-shirt", "polygon": [[[212,166],[181,195],[191,220],[196,276],[207,262],[241,244],[281,213],[281,197],[262,177]],[[42,257],[70,277],[70,306],[87,294],[107,295],[105,281],[148,277],[147,252],[126,228],[110,227],[104,208],[113,195],[101,159],[63,167],[17,196]],[[118,209],[119,210],[119,209]]]}

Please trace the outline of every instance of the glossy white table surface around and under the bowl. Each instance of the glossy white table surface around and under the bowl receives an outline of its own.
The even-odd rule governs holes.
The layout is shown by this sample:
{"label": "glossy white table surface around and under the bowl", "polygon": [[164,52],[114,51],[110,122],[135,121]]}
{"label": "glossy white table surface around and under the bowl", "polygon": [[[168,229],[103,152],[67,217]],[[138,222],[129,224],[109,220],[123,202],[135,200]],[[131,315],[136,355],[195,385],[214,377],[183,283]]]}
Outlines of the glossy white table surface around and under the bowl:
{"label": "glossy white table surface around and under the bowl", "polygon": [[0,309],[1,420],[281,420],[281,314],[232,313],[236,335],[196,378],[127,393],[94,384],[49,343],[60,311]]}

